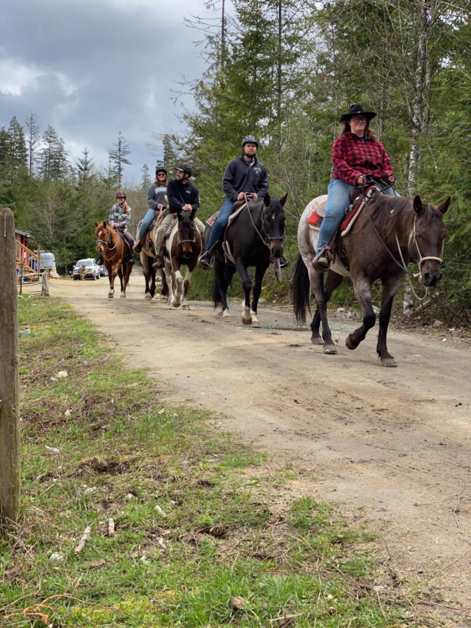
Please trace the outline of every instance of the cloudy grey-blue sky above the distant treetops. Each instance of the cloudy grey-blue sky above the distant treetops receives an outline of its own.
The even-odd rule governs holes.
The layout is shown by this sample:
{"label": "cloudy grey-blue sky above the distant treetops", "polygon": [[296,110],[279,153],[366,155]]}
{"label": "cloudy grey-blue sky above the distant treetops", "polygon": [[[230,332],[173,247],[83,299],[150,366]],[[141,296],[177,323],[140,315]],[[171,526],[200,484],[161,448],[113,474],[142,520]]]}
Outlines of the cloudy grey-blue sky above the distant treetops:
{"label": "cloudy grey-blue sky above the distant treetops", "polygon": [[[65,141],[70,158],[89,146],[106,165],[118,131],[129,141],[139,180],[156,155],[146,131],[178,131],[176,82],[205,69],[183,16],[206,15],[203,0],[6,0],[1,11],[0,126],[30,111]],[[183,97],[192,107],[191,97]]]}

